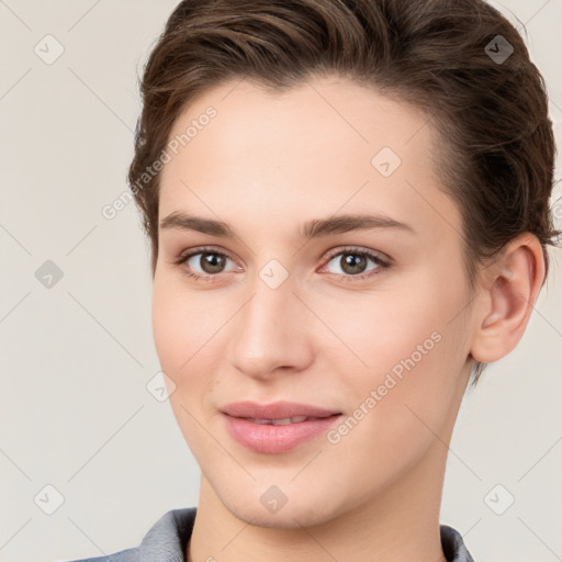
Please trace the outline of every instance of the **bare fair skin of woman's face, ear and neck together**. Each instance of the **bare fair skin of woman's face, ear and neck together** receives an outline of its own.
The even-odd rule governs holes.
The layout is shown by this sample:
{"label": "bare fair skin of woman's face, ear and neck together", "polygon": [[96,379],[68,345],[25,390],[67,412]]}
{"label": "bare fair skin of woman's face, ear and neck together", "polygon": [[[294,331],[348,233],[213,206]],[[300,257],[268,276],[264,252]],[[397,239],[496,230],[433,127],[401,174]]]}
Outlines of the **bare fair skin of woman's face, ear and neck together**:
{"label": "bare fair skin of woman's face, ear and neck together", "polygon": [[[460,213],[431,164],[438,135],[415,108],[347,79],[282,94],[223,85],[190,103],[170,138],[209,105],[217,115],[165,166],[159,220],[183,211],[238,237],[161,228],[154,276],[155,345],[202,471],[187,560],[443,562],[445,465],[470,368],[521,338],[544,276],[538,239],[514,238],[470,293]],[[402,159],[387,178],[371,165],[384,146]],[[414,233],[300,236],[308,220],[356,212]],[[227,256],[223,270],[203,269],[201,254],[172,263],[205,245]],[[341,258],[356,250],[337,254],[346,246],[392,266],[368,259],[371,277],[355,280]],[[289,273],[277,289],[259,277],[271,259]],[[321,435],[266,454],[225,429],[220,408],[240,400],[352,416],[432,333],[439,342],[337,443]],[[286,496],[277,513],[260,503],[271,485]]]}

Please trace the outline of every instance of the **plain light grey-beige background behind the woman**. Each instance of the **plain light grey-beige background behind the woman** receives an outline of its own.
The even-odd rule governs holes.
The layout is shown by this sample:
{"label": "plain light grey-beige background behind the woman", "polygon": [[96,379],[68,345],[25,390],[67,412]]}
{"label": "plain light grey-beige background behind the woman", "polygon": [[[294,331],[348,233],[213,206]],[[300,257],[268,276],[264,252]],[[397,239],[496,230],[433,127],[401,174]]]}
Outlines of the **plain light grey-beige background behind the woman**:
{"label": "plain light grey-beige background behind the woman", "polygon": [[[0,1],[1,561],[115,552],[198,502],[198,464],[146,389],[159,363],[136,209],[101,214],[127,189],[136,72],[176,3]],[[560,144],[562,0],[494,5],[527,24]],[[34,52],[47,34],[65,49],[52,65]],[[562,259],[550,255],[522,341],[465,397],[451,442],[441,522],[476,562],[562,560]],[[46,260],[64,272],[50,289],[35,277]],[[48,484],[64,496],[52,515]],[[503,515],[484,501],[497,484],[496,510],[515,497]]]}

